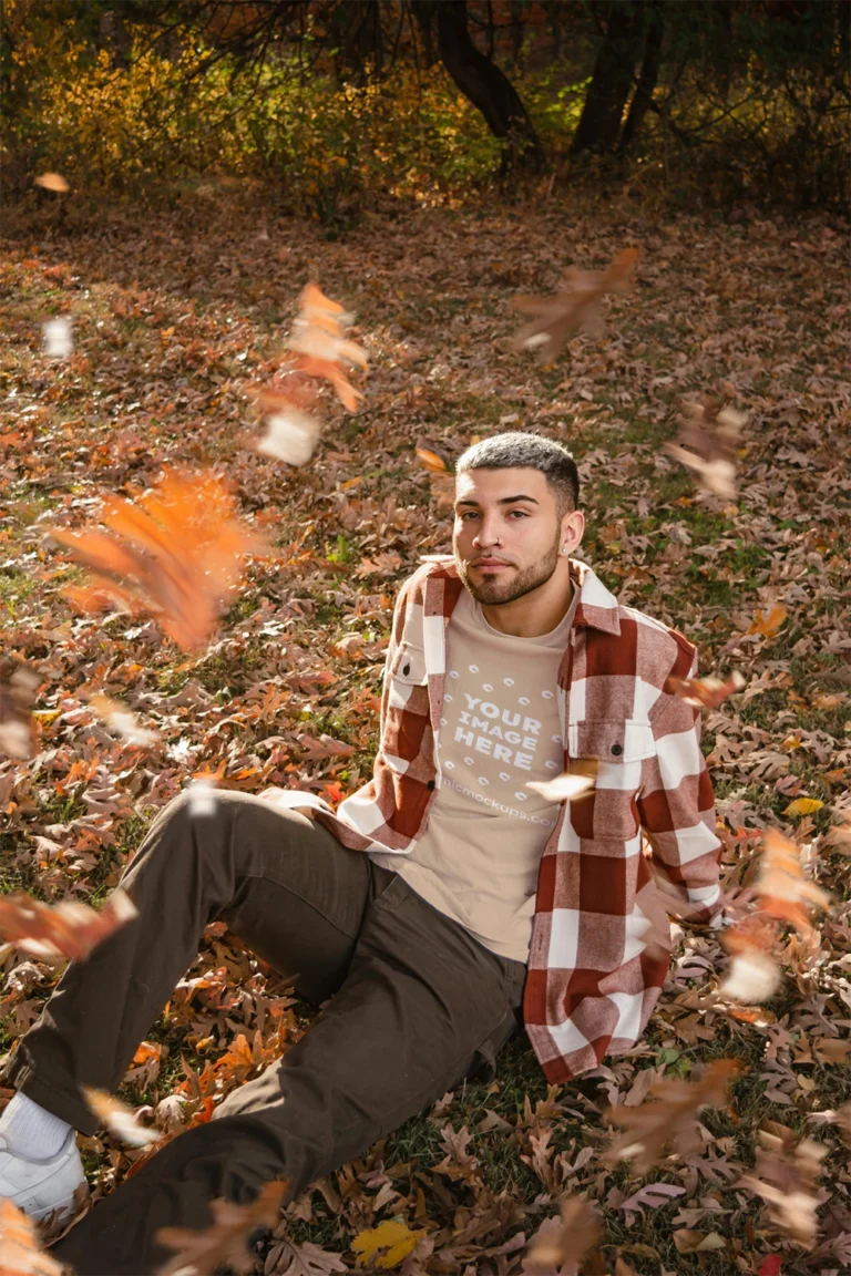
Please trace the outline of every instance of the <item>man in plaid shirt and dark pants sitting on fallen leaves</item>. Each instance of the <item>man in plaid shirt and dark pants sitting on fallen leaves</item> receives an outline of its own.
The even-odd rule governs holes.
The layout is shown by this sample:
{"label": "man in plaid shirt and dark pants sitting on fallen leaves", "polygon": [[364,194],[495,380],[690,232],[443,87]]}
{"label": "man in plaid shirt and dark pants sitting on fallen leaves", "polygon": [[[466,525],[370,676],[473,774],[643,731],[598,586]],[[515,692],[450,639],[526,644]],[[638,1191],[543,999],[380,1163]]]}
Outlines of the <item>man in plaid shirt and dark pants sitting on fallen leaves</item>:
{"label": "man in plaid shirt and dark pants sitting on fallen leaves", "polygon": [[[551,1082],[640,1037],[667,968],[643,938],[653,872],[708,923],[720,842],[698,715],[665,689],[695,649],[572,556],[578,496],[570,453],[538,435],[461,457],[454,553],[399,591],[374,777],[337,814],[223,791],[153,823],[121,883],[138,917],[68,968],[15,1053],[0,1193],[33,1217],[71,1205],[74,1132],[97,1125],[80,1090],[121,1083],[208,923],[327,1004],[71,1229],[56,1253],[79,1276],[151,1276],[157,1230],[208,1226],[217,1197],[304,1192],[492,1076],[521,1023]],[[595,787],[529,787],[565,771]]]}

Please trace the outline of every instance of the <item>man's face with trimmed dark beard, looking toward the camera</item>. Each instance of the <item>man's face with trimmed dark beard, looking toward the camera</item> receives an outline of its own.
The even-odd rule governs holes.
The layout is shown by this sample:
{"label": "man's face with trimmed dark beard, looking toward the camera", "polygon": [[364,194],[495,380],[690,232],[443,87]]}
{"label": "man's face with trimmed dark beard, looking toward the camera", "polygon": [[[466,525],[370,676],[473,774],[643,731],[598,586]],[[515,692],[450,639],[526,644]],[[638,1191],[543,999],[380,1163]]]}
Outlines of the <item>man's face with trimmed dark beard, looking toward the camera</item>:
{"label": "man's face with trimmed dark beard, looking toward the camera", "polygon": [[[566,572],[560,545],[555,499],[540,470],[458,475],[452,547],[458,574],[477,602],[514,602],[545,584],[560,561]],[[499,565],[489,568],[489,560]]]}

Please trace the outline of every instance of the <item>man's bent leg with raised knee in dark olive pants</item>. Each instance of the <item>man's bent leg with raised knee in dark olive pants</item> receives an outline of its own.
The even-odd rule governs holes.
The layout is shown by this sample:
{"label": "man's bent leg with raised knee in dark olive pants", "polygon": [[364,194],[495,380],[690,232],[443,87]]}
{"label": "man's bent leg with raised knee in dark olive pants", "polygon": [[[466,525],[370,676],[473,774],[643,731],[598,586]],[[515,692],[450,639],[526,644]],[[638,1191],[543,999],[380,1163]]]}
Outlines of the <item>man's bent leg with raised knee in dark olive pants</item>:
{"label": "man's bent leg with raised knee in dark olive pants", "polygon": [[[181,796],[157,818],[122,879],[139,916],[68,968],[19,1042],[10,1079],[46,1113],[93,1133],[98,1120],[80,1086],[120,1085],[209,921],[225,917],[255,952],[296,976],[305,995],[323,1000],[348,970],[375,880],[366,856],[305,815],[227,791],[211,814],[196,815]],[[14,1156],[27,1157],[29,1111],[26,1118],[6,1123],[4,1193],[13,1189]],[[74,1152],[73,1139],[69,1147]]]}

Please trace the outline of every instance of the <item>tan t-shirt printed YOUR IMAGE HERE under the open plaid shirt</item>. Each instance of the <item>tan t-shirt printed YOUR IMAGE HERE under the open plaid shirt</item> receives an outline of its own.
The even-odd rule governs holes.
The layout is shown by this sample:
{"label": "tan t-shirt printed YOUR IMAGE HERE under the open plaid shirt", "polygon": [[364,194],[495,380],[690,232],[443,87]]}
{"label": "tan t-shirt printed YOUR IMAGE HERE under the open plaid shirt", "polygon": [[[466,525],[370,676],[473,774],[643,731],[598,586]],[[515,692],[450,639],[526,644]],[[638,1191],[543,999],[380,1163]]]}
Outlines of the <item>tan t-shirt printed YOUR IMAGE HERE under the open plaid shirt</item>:
{"label": "tan t-shirt printed YOUR IMAGE HERE under the open plaid shirt", "polygon": [[438,791],[407,855],[370,852],[486,948],[527,961],[538,864],[559,804],[529,780],[561,772],[556,675],[570,607],[537,638],[494,629],[463,590],[447,629],[447,683],[436,744]]}

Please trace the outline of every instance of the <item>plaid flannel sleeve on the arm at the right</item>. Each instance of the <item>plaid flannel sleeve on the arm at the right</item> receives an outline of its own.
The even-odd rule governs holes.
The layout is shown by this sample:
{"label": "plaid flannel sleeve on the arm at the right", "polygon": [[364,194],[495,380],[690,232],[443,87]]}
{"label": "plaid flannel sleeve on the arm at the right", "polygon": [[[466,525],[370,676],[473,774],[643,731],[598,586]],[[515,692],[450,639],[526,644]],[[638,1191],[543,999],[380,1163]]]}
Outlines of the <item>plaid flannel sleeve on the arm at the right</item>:
{"label": "plaid flannel sleeve on the arm at the right", "polygon": [[[697,675],[697,656],[690,678]],[[700,715],[677,695],[662,692],[653,722],[656,757],[638,799],[651,846],[651,861],[681,900],[683,921],[718,925],[721,841],[714,831],[714,795],[700,750]]]}

